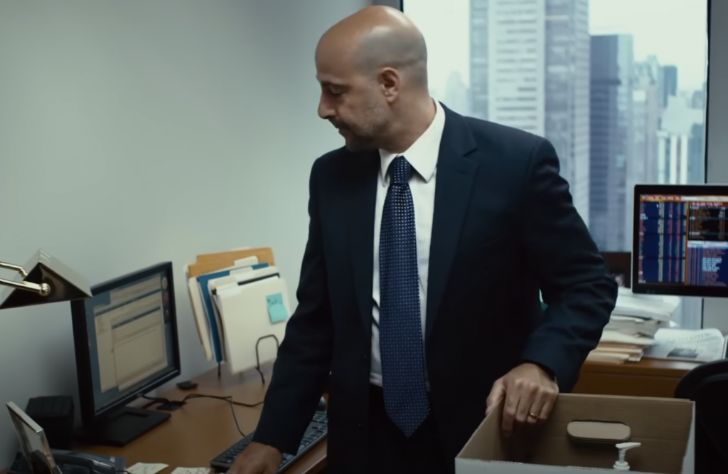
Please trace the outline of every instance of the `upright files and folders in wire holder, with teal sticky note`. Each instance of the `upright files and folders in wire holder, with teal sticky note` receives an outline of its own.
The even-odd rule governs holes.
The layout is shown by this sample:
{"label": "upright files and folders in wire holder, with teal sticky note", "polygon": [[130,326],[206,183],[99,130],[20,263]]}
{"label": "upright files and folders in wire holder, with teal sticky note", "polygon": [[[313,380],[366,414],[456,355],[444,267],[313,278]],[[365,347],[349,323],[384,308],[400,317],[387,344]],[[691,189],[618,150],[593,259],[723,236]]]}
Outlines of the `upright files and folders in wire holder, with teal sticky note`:
{"label": "upright files and folders in wire holder, with teal sticky note", "polygon": [[272,249],[198,255],[185,273],[207,360],[239,373],[276,357],[290,303]]}

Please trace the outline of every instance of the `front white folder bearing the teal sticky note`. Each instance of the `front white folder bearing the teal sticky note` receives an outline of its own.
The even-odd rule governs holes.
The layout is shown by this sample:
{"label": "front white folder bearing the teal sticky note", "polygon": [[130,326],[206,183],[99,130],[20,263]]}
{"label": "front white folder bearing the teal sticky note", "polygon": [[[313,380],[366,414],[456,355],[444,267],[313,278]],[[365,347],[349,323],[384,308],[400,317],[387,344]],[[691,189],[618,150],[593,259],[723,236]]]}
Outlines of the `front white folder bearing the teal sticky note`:
{"label": "front white folder bearing the teal sticky note", "polygon": [[[285,279],[277,276],[249,282],[219,290],[216,295],[220,310],[224,340],[226,341],[226,362],[231,373],[256,368],[256,345],[259,362],[264,364],[277,356],[277,344],[285,336],[285,327],[290,317],[290,302]],[[277,310],[285,310],[284,320],[274,322],[271,302],[281,300]],[[258,342],[260,341],[260,342]]]}

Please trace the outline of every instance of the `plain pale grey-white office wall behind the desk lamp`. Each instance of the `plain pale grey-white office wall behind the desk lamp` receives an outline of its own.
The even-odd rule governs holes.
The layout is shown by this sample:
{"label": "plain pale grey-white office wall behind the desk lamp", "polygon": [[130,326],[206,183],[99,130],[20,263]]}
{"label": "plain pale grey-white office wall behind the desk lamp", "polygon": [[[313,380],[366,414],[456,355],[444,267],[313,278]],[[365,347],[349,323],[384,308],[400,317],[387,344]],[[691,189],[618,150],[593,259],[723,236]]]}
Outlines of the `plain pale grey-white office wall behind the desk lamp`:
{"label": "plain pale grey-white office wall behind the desk lamp", "polygon": [[[210,368],[182,265],[272,246],[293,297],[309,169],[341,146],[316,114],[314,47],[366,4],[0,2],[0,260],[42,248],[92,284],[172,260],[182,379]],[[0,402],[76,393],[69,306],[3,311]]]}

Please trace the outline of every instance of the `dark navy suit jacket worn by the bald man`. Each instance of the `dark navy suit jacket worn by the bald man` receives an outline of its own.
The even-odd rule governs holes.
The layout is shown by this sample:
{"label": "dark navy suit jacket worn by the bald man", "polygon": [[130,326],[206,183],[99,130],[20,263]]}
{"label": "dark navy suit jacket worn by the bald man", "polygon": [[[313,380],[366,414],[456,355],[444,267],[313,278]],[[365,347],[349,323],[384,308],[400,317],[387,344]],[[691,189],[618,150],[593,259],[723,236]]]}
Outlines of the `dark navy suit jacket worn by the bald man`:
{"label": "dark navy suit jacket worn by the bald man", "polygon": [[[432,414],[454,457],[482,421],[494,381],[519,362],[537,362],[562,392],[572,389],[617,286],[549,141],[445,111],[424,338]],[[314,163],[298,308],[255,436],[295,452],[331,372],[334,473],[358,472],[367,453],[379,167],[378,152],[343,148]]]}

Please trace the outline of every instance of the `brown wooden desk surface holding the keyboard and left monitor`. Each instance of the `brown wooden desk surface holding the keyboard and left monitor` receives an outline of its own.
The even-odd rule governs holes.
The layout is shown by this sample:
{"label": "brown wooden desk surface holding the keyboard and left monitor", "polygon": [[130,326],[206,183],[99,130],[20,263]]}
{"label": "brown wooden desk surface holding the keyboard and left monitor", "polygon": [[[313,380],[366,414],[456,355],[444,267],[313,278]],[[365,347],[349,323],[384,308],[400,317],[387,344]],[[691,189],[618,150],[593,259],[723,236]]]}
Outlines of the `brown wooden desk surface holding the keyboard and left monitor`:
{"label": "brown wooden desk surface holding the keyboard and left monitor", "polygon": [[[269,381],[271,368],[264,369],[264,373],[266,373],[266,381]],[[224,367],[221,378],[218,378],[217,369],[214,369],[194,378],[194,381],[198,384],[197,389],[180,390],[175,387],[175,389],[160,394],[159,397],[181,400],[190,393],[232,395],[236,402],[252,405],[263,400],[267,387],[261,384],[261,378],[255,371],[245,373],[244,377],[232,376]],[[258,405],[256,408],[236,405],[234,409],[242,432],[248,434],[256,428],[261,416],[262,405]],[[127,459],[127,466],[131,466],[135,462],[163,462],[170,467],[160,474],[168,474],[175,467],[210,467],[210,460],[213,457],[240,440],[240,433],[235,427],[229,402],[210,398],[194,398],[188,400],[186,405],[171,414],[171,419],[123,448],[76,443],[74,449],[122,456]],[[306,453],[296,465],[286,470],[286,473],[319,473],[325,465],[326,440],[323,440]]]}

